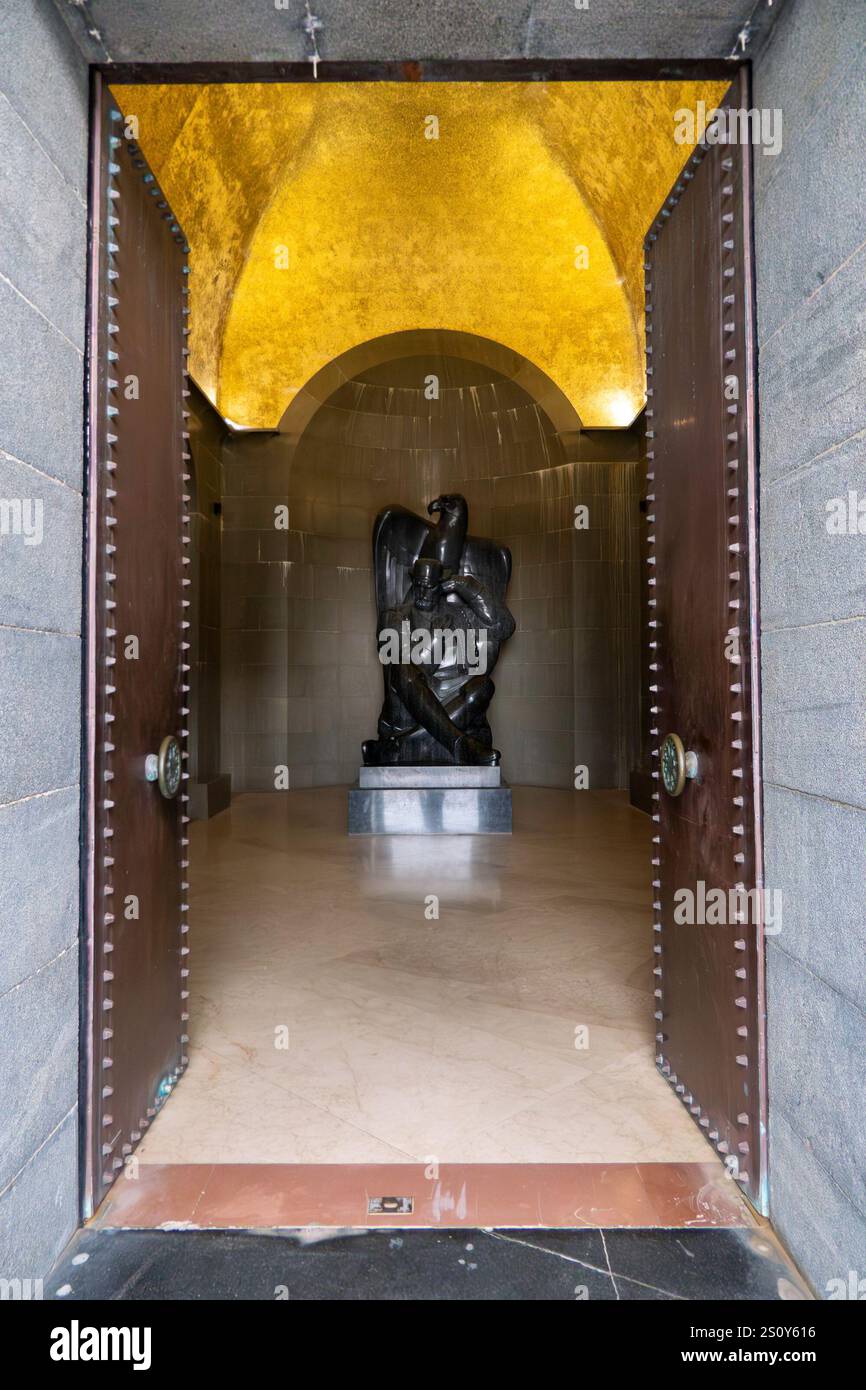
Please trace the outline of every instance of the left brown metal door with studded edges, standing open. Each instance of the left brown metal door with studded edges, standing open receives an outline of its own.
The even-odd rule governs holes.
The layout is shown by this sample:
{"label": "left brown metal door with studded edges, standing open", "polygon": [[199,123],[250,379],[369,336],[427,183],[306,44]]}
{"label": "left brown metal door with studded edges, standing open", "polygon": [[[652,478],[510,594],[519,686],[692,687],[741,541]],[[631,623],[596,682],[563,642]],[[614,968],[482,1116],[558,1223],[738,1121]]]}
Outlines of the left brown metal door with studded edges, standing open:
{"label": "left brown metal door with studded edges, standing open", "polygon": [[95,86],[88,324],[85,1215],[185,1065],[188,246]]}

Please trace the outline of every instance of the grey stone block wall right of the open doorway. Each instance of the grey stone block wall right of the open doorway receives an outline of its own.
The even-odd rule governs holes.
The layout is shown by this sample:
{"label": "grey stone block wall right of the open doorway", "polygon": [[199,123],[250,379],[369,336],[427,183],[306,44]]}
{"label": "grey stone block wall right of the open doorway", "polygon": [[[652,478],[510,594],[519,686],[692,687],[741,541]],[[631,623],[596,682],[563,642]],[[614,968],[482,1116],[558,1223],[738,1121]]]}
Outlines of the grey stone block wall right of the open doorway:
{"label": "grey stone block wall right of the open doorway", "polygon": [[866,537],[827,530],[866,498],[865,46],[866,7],[794,0],[755,72],[770,1215],[820,1294],[866,1276]]}

